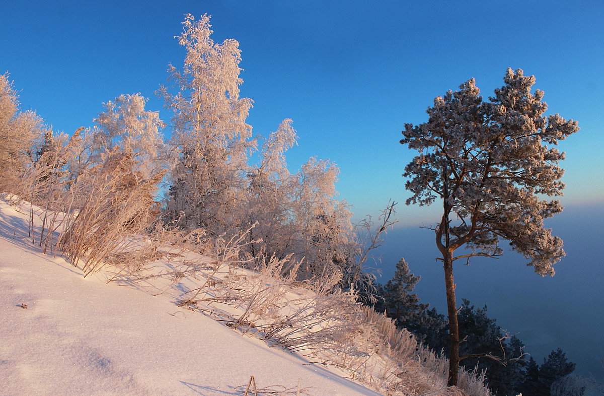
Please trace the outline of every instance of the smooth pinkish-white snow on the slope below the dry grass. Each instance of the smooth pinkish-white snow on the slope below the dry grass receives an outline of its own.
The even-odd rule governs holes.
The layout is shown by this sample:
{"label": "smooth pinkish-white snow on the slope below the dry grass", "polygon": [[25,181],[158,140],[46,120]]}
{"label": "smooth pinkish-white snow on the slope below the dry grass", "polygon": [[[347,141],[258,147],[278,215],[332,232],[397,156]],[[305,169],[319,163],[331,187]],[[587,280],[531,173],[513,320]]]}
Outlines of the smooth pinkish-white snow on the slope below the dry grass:
{"label": "smooth pinkish-white snow on the slope below the dry grass", "polygon": [[28,214],[0,201],[3,395],[240,395],[251,376],[291,394],[377,395],[170,294],[105,279],[44,255],[28,239]]}

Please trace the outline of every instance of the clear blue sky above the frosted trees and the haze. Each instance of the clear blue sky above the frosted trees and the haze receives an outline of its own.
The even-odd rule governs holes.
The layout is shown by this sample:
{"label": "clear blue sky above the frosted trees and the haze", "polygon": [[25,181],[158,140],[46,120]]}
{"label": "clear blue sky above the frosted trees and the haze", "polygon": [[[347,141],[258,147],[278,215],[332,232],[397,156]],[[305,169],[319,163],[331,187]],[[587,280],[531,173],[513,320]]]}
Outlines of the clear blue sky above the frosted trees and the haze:
{"label": "clear blue sky above the frosted trees and the haze", "polygon": [[341,169],[338,190],[355,217],[399,201],[400,224],[434,210],[404,207],[398,143],[403,124],[421,123],[435,96],[475,77],[483,95],[507,67],[536,76],[548,112],[579,121],[562,142],[563,204],[604,203],[604,2],[582,1],[5,1],[0,73],[22,108],[54,130],[91,126],[102,102],[149,97],[169,62],[182,65],[184,13],[211,15],[213,39],[240,42],[248,123],[268,134],[292,118],[300,140],[295,172],[310,156]]}

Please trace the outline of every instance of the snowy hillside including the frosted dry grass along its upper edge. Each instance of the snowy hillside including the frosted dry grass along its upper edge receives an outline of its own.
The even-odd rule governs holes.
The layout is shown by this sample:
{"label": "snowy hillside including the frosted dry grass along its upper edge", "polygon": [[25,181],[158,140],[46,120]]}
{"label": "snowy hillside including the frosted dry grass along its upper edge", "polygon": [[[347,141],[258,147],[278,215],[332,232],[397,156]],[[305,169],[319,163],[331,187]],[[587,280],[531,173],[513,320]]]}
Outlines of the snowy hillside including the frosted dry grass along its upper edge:
{"label": "snowy hillside including the frosted dry grass along its upper edge", "polygon": [[[445,360],[330,292],[331,276],[294,281],[275,258],[250,270],[240,240],[194,253],[201,235],[163,233],[123,241],[85,277],[82,261],[42,252],[46,215],[0,203],[6,395],[236,395],[251,377],[258,394],[462,394]],[[460,374],[463,394],[489,394]]]}

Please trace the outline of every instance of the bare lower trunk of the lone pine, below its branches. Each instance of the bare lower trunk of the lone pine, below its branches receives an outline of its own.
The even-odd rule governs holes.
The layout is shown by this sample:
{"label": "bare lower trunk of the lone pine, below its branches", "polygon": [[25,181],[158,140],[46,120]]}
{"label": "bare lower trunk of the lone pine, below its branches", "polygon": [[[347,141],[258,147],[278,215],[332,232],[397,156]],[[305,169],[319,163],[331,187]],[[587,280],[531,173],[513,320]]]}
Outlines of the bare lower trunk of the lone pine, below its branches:
{"label": "bare lower trunk of the lone pine, below its branches", "polygon": [[457,304],[455,303],[455,284],[453,282],[453,260],[451,252],[443,257],[445,265],[445,287],[447,311],[449,316],[449,380],[448,386],[457,385],[459,371],[459,325],[457,322]]}

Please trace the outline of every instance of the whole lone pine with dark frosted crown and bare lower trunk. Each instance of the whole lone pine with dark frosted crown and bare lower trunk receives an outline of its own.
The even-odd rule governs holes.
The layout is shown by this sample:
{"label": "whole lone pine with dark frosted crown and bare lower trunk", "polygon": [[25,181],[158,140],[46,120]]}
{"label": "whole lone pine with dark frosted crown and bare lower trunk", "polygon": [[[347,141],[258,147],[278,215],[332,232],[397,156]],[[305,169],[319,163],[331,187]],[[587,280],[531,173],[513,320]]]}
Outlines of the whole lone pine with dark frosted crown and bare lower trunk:
{"label": "whole lone pine with dark frosted crown and bare lower trunk", "polygon": [[[500,240],[527,258],[542,276],[564,256],[561,239],[543,219],[561,212],[564,153],[549,145],[579,128],[557,114],[544,115],[543,92],[531,93],[535,77],[507,70],[505,85],[483,102],[474,79],[456,92],[434,99],[428,122],[406,124],[402,144],[420,152],[405,167],[413,194],[406,204],[420,206],[440,198],[443,214],[434,227],[445,269],[449,318],[449,385],[457,384],[459,340],[453,263],[472,256],[497,256]],[[465,247],[455,255],[455,251]]]}

